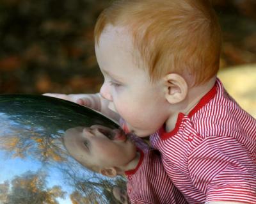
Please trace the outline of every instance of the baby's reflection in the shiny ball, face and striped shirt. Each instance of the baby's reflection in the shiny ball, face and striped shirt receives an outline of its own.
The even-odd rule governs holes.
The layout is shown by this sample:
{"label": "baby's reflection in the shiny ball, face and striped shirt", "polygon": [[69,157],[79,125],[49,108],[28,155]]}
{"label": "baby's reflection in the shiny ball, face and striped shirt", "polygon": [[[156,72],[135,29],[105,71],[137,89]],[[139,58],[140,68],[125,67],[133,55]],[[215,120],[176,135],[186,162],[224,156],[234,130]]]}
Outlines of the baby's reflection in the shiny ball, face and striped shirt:
{"label": "baby's reflection in the shiny ball, face and striped shirt", "polygon": [[159,153],[140,138],[93,125],[68,129],[64,145],[74,159],[92,171],[107,177],[126,175],[131,203],[186,203],[166,175]]}

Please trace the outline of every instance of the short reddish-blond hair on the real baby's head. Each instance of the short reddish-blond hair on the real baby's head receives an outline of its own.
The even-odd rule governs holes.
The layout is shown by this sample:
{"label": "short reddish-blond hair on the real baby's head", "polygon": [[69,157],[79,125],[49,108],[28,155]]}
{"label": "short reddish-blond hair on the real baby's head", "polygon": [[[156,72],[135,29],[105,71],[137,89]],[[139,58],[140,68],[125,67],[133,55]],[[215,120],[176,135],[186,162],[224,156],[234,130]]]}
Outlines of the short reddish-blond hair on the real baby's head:
{"label": "short reddish-blond hair on the real baby's head", "polygon": [[119,0],[99,16],[95,43],[106,27],[129,29],[152,81],[168,73],[202,84],[219,69],[221,30],[207,0]]}

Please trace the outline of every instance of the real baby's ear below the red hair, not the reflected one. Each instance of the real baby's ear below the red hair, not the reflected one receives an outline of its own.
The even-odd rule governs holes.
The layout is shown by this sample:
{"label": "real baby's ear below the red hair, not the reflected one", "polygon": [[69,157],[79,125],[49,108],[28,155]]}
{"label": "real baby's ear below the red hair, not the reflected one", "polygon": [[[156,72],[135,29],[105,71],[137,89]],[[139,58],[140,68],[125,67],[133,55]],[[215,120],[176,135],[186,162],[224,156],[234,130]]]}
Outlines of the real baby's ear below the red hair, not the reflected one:
{"label": "real baby's ear below the red hair, not the reflected one", "polygon": [[182,102],[188,95],[188,84],[179,74],[167,74],[164,77],[165,98],[170,104]]}

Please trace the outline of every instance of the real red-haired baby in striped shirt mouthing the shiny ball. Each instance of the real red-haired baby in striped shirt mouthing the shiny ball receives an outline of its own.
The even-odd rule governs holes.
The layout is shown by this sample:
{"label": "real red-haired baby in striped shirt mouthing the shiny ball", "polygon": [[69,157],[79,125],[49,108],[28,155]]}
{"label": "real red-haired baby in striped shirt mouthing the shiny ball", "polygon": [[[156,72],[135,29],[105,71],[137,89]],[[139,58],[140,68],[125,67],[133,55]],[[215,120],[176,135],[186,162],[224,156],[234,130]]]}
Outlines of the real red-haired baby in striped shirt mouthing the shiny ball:
{"label": "real red-haired baby in striped shirt mouthing the shiny ball", "polygon": [[188,203],[256,203],[256,120],[216,77],[221,30],[209,1],[114,1],[97,20],[95,52],[100,93],[68,100],[150,136]]}

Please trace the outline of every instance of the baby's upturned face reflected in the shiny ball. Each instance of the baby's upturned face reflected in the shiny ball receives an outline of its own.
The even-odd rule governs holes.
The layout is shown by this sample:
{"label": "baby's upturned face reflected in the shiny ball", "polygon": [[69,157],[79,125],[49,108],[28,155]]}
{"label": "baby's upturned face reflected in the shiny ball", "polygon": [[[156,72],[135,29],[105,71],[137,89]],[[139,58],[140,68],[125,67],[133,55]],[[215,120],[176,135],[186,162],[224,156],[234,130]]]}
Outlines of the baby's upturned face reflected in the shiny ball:
{"label": "baby's upturned face reflected in the shiny ball", "polygon": [[68,129],[64,144],[77,161],[99,168],[124,166],[136,157],[136,146],[122,130],[102,125]]}

